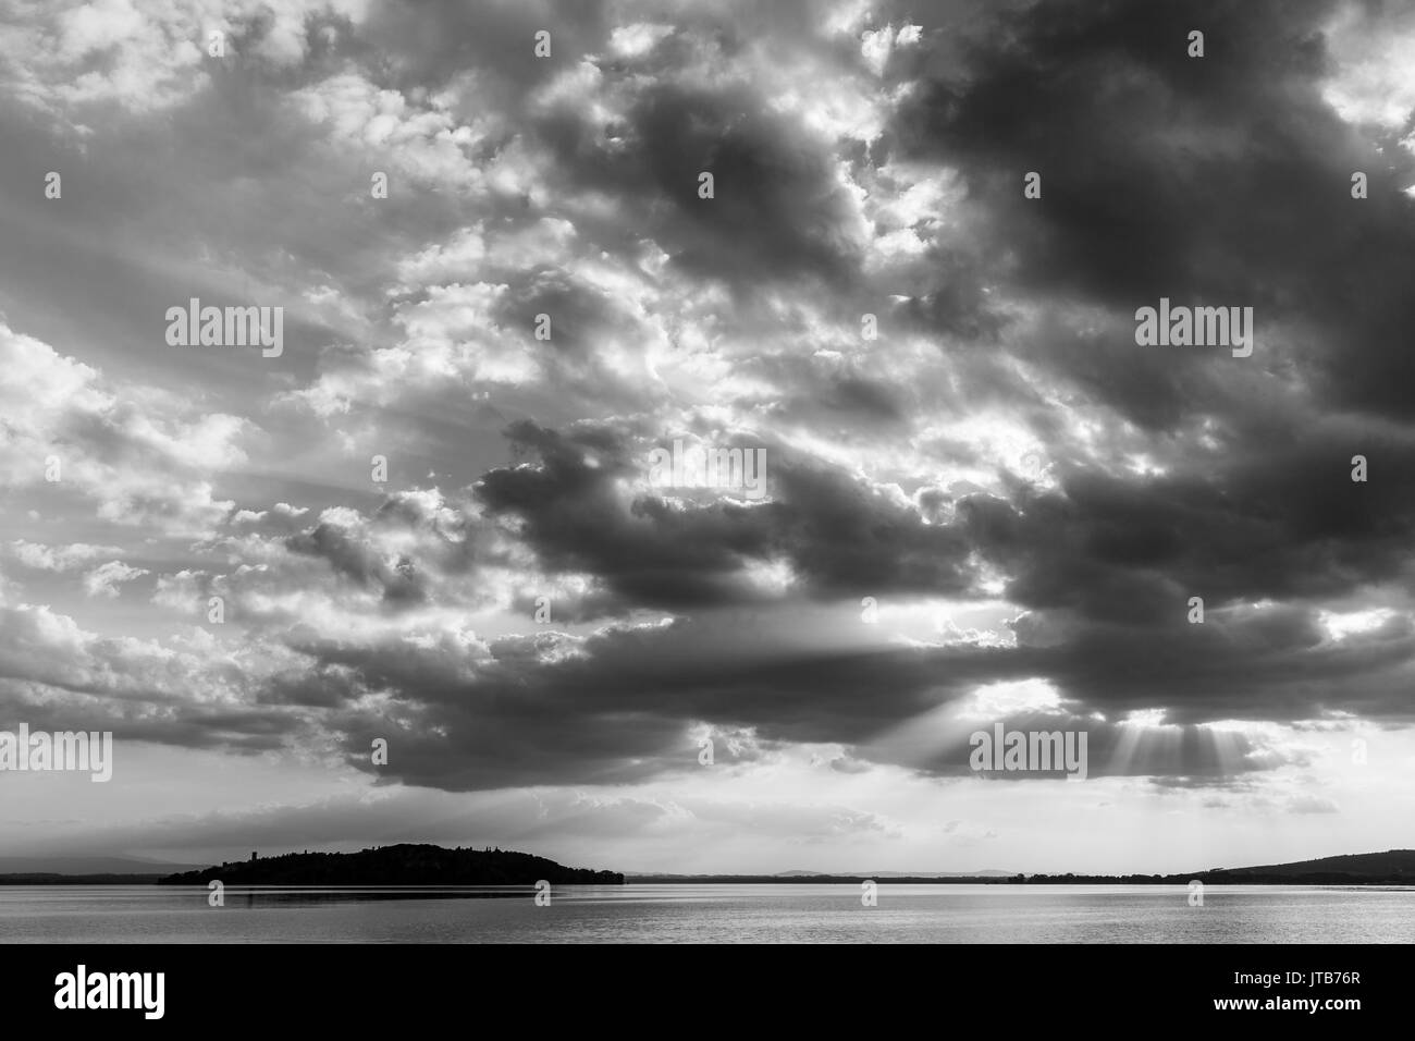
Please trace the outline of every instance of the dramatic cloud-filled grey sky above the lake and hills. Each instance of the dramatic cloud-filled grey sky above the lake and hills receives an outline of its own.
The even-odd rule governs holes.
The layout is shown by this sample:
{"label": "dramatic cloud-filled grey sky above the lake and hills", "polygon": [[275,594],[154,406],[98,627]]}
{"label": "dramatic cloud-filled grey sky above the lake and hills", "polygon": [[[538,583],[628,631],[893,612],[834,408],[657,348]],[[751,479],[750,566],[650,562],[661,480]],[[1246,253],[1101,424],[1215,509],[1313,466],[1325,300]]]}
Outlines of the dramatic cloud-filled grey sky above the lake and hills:
{"label": "dramatic cloud-filled grey sky above the lake and hills", "polygon": [[0,851],[1415,846],[1412,116],[1394,3],[0,0],[0,729],[115,748]]}

